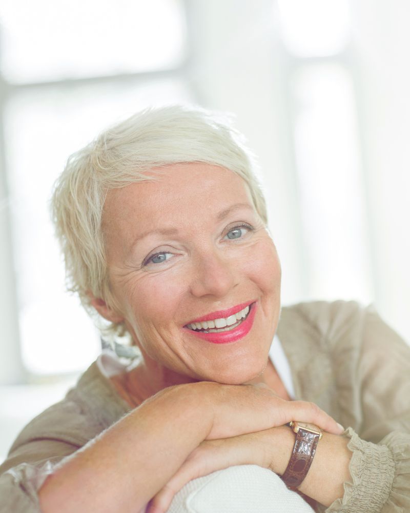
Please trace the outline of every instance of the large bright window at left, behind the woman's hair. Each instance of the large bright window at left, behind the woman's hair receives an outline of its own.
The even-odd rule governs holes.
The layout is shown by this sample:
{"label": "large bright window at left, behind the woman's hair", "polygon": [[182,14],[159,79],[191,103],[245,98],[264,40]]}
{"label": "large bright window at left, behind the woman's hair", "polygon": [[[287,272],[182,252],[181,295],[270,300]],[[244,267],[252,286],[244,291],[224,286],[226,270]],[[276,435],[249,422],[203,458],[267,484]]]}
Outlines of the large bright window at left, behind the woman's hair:
{"label": "large bright window at left, behind the woman's hair", "polygon": [[[23,363],[35,376],[76,372],[100,350],[67,294],[49,220],[67,157],[147,105],[193,101],[181,2],[8,0],[1,15],[6,174]],[[155,27],[155,30],[152,30]]]}

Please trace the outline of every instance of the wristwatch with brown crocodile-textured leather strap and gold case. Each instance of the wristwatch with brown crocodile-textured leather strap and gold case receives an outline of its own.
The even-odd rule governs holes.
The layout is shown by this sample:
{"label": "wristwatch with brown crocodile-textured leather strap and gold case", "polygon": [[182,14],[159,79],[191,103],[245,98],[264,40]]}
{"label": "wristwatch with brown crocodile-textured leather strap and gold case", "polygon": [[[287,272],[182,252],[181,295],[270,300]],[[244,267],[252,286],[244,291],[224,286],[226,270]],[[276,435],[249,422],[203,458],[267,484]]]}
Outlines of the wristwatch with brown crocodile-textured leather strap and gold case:
{"label": "wristwatch with brown crocodile-textured leather strap and gold case", "polygon": [[317,444],[323,433],[315,424],[291,421],[287,425],[296,433],[296,440],[282,480],[288,488],[295,490],[300,486],[312,465]]}

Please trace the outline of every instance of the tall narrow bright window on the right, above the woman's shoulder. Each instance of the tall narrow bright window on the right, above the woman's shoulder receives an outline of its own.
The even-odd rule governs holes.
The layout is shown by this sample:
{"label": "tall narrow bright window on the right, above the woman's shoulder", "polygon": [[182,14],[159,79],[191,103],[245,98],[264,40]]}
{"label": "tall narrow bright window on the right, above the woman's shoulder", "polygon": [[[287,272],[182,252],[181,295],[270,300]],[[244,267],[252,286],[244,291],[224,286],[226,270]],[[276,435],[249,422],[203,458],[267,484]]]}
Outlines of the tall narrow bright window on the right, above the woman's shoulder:
{"label": "tall narrow bright window on the right, above the woman's shoulder", "polygon": [[288,61],[305,296],[370,302],[348,2],[283,0],[278,8]]}

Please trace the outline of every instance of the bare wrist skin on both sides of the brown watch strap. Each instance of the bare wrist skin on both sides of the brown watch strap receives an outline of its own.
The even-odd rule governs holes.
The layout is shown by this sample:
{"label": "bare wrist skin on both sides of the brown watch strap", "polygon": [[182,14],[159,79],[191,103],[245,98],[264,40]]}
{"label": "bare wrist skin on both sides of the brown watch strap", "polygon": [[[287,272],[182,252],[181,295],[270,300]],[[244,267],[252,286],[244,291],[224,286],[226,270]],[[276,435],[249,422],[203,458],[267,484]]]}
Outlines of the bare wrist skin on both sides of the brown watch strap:
{"label": "bare wrist skin on both sides of the brown watch strap", "polygon": [[[288,426],[277,427],[274,431],[277,442],[273,444],[271,468],[281,476],[291,458],[295,434]],[[347,443],[344,437],[323,433],[308,475],[299,486],[303,494],[325,506],[343,497],[343,483],[351,480],[348,466],[352,452]]]}

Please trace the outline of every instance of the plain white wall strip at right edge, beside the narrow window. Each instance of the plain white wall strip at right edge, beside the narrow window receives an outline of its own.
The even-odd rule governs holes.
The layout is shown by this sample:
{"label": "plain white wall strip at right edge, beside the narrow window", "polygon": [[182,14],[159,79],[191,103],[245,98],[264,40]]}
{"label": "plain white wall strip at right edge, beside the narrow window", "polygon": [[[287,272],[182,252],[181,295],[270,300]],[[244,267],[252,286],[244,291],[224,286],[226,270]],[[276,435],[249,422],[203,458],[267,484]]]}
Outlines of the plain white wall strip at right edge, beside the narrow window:
{"label": "plain white wall strip at right edge, beside the narrow window", "polygon": [[352,2],[375,300],[410,342],[410,4]]}

